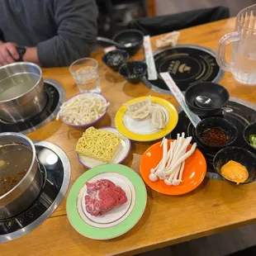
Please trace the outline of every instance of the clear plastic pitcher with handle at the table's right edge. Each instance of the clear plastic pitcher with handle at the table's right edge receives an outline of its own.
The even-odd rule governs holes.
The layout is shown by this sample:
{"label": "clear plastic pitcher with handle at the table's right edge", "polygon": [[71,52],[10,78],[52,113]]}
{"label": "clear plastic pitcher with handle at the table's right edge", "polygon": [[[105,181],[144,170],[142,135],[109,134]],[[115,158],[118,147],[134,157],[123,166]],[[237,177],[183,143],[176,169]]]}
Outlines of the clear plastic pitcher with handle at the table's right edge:
{"label": "clear plastic pitcher with handle at the table's right edge", "polygon": [[[225,46],[230,42],[233,42],[233,48],[230,63],[227,63]],[[256,84],[256,4],[239,12],[235,32],[220,39],[217,62],[239,83]]]}

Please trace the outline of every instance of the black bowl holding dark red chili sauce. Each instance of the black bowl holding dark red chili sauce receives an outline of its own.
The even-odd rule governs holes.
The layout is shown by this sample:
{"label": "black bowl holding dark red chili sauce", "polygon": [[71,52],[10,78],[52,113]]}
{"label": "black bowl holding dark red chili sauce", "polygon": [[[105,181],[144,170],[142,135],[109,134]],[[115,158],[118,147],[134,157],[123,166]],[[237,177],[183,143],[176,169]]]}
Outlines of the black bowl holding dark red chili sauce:
{"label": "black bowl holding dark red chili sauce", "polygon": [[[230,136],[230,140],[225,145],[208,145],[202,140],[201,135],[202,133],[211,128],[220,128],[224,130],[227,135]],[[207,117],[203,119],[196,127],[196,136],[197,140],[199,140],[200,144],[206,148],[211,149],[222,149],[228,145],[231,145],[237,138],[238,130],[230,121],[227,121],[225,118],[222,117]]]}

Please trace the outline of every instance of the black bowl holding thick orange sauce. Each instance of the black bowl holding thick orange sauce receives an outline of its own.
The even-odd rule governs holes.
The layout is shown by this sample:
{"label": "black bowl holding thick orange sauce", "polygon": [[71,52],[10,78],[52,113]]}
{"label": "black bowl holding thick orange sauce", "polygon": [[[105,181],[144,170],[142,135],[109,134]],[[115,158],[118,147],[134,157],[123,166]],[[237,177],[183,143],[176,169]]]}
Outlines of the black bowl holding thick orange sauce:
{"label": "black bowl holding thick orange sauce", "polygon": [[[216,173],[220,175],[220,177],[225,178],[220,173],[220,168],[228,163],[230,160],[236,161],[240,164],[243,164],[249,173],[249,178],[244,183],[239,184],[248,184],[253,183],[256,179],[256,156],[249,152],[247,149],[239,148],[239,147],[228,147],[225,149],[221,149],[213,159],[213,168]],[[230,183],[232,182],[225,178],[226,181]]]}

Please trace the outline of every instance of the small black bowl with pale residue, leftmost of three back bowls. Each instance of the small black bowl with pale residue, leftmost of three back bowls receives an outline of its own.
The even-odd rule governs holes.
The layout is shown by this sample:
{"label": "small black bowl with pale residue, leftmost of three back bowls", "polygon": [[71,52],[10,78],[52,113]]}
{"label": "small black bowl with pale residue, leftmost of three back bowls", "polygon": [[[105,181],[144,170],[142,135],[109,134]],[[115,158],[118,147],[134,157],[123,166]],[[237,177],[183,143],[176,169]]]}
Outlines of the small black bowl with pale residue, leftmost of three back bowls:
{"label": "small black bowl with pale residue, leftmost of three back bowls", "polygon": [[102,57],[102,61],[114,71],[118,71],[127,59],[129,59],[129,54],[126,50],[111,50]]}

